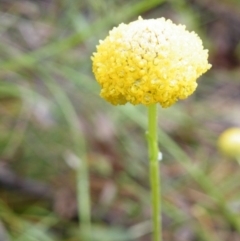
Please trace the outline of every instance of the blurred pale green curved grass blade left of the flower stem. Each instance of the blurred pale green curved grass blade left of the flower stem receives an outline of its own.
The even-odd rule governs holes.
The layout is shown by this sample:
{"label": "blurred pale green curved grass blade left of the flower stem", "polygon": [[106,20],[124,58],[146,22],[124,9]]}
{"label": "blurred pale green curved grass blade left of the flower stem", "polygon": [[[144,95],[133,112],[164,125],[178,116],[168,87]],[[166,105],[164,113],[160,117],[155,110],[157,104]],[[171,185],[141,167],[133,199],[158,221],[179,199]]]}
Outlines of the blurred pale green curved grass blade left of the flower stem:
{"label": "blurred pale green curved grass blade left of the flower stem", "polygon": [[77,208],[78,216],[80,218],[80,233],[81,240],[91,240],[91,199],[89,187],[89,170],[86,153],[86,146],[84,137],[81,135],[78,124],[78,116],[71,101],[66,93],[58,85],[45,69],[38,68],[39,73],[44,77],[46,85],[54,95],[59,106],[61,107],[66,121],[69,125],[70,136],[72,138],[73,150],[76,156],[80,159],[77,170]]}

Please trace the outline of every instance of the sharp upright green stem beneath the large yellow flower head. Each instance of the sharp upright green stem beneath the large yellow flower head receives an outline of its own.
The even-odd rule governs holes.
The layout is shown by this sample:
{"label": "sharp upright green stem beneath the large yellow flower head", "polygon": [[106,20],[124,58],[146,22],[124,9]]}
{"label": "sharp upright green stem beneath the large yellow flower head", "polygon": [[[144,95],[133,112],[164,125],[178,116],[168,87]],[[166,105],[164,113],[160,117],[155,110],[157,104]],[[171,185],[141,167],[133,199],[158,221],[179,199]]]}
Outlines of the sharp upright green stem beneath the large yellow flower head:
{"label": "sharp upright green stem beneath the large yellow flower head", "polygon": [[157,104],[148,107],[148,148],[152,199],[153,241],[162,240],[160,166],[158,160]]}

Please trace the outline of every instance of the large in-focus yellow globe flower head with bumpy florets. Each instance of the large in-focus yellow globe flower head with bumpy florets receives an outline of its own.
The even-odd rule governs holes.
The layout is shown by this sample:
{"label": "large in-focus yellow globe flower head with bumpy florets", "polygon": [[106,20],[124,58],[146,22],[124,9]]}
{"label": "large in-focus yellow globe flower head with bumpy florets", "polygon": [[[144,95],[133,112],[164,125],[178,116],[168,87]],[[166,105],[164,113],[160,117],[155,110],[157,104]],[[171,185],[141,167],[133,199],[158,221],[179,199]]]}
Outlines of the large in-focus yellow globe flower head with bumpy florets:
{"label": "large in-focus yellow globe flower head with bumpy florets", "polygon": [[164,18],[120,24],[92,56],[105,100],[162,107],[194,92],[196,79],[211,67],[207,59],[197,34]]}

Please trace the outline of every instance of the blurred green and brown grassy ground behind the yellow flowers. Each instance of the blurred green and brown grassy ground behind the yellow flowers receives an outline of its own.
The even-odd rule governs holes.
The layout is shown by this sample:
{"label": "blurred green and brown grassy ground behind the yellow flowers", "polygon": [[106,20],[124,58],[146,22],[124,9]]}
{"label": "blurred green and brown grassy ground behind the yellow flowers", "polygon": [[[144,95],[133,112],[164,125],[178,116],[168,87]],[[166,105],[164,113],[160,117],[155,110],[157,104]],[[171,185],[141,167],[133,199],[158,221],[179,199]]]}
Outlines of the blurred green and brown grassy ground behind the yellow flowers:
{"label": "blurred green and brown grassy ground behind the yellow flowers", "polygon": [[121,22],[196,31],[212,69],[159,106],[163,239],[240,240],[240,166],[217,149],[240,126],[239,0],[0,0],[0,240],[79,241],[77,164],[95,241],[149,241],[147,110],[99,97],[91,55]]}

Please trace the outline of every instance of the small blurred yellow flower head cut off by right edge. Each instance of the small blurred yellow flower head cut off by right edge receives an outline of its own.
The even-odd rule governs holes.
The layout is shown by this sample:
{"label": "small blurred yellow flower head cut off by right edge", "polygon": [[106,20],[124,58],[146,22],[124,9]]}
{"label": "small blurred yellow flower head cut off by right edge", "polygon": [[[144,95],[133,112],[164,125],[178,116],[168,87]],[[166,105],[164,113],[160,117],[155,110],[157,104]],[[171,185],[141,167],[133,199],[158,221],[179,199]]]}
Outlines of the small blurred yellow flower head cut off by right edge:
{"label": "small blurred yellow flower head cut off by right edge", "polygon": [[229,157],[240,158],[240,128],[225,130],[219,137],[218,148]]}

